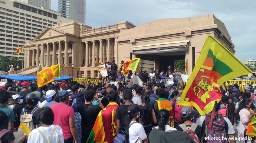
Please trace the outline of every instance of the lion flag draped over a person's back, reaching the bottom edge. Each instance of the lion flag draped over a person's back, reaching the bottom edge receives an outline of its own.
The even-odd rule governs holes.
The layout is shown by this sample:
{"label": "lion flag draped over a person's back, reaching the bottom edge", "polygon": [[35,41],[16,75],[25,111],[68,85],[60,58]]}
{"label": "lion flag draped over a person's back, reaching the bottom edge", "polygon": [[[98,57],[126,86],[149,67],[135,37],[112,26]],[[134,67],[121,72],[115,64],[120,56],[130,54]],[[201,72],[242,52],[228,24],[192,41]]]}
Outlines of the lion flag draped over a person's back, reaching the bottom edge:
{"label": "lion flag draped over a person's back, reaching the bottom edge", "polygon": [[118,105],[110,102],[102,109],[86,143],[113,143],[116,136],[115,112]]}

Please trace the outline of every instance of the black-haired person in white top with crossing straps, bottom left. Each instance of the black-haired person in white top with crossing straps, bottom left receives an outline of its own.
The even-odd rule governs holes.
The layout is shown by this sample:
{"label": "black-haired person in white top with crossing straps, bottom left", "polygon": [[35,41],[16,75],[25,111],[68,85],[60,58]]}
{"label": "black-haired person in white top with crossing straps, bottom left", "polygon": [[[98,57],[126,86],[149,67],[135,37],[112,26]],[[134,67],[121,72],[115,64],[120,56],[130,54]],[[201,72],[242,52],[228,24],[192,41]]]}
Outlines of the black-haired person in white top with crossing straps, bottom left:
{"label": "black-haired person in white top with crossing straps, bottom left", "polygon": [[27,140],[28,143],[64,143],[61,127],[59,125],[53,125],[55,117],[50,107],[41,108],[37,118],[42,126],[32,130]]}

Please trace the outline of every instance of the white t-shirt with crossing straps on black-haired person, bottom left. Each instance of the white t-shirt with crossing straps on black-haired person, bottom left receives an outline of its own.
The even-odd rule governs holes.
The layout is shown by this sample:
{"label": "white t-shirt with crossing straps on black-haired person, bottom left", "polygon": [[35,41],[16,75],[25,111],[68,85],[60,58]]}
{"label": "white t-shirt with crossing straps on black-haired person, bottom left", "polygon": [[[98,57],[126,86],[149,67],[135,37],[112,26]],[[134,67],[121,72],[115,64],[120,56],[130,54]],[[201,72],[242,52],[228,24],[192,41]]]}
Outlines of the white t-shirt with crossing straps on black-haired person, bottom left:
{"label": "white t-shirt with crossing straps on black-haired person, bottom left", "polygon": [[[52,136],[54,125],[49,127],[39,127],[43,135],[46,137],[47,141],[49,141]],[[27,140],[28,143],[46,143],[43,139],[43,136],[38,132],[37,129],[33,129],[29,134],[29,138]],[[64,143],[63,132],[59,125],[57,125],[56,131],[50,140],[50,143]]]}

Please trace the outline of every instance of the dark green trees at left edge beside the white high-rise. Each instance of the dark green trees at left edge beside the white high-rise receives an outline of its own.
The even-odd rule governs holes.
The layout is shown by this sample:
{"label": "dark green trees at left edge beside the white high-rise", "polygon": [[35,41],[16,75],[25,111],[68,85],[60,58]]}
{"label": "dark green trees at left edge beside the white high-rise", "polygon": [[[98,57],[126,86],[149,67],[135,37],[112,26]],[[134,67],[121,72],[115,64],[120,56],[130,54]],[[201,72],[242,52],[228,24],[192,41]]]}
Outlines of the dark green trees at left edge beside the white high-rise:
{"label": "dark green trees at left edge beside the white high-rise", "polygon": [[14,70],[22,69],[22,60],[18,58],[9,59],[8,57],[0,57],[0,71],[9,71],[13,65]]}

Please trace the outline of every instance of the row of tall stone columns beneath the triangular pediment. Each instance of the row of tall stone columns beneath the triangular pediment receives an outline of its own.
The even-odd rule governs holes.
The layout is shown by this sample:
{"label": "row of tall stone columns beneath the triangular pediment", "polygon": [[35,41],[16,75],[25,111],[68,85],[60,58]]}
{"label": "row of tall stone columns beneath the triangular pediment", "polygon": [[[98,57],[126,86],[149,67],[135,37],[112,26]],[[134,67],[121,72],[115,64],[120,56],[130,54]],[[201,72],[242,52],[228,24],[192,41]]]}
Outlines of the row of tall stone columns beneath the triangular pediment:
{"label": "row of tall stone columns beneath the triangular pediment", "polygon": [[[64,64],[68,64],[68,42],[69,41],[63,41],[64,42]],[[58,41],[59,49],[58,49],[58,63],[62,63],[62,42]],[[46,63],[45,63],[45,45],[46,45]],[[39,55],[41,49],[41,55]],[[39,57],[40,58],[40,64],[42,67],[46,66],[52,66],[56,64],[56,42],[52,42],[52,65],[50,65],[50,43],[45,43],[36,45],[36,66],[39,66]],[[35,50],[32,50],[32,66],[35,64]]]}

